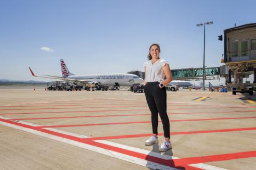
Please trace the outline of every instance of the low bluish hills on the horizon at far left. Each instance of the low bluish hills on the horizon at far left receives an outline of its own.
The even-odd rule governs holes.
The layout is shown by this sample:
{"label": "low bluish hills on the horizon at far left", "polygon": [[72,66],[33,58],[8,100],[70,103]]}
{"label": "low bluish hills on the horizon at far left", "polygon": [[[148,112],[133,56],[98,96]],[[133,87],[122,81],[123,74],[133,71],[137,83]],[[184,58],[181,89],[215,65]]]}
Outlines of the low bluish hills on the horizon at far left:
{"label": "low bluish hills on the horizon at far left", "polygon": [[47,84],[45,81],[21,81],[21,80],[9,80],[9,79],[0,79],[0,86],[4,85],[40,85],[40,84]]}

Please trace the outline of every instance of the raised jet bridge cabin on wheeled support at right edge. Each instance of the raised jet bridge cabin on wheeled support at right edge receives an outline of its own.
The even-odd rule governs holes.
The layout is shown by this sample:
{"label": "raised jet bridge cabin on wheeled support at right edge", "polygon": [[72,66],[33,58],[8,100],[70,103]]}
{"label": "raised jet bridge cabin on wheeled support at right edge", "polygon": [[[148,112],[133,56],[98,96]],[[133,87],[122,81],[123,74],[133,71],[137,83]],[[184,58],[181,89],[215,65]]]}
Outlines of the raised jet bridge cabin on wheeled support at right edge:
{"label": "raised jet bridge cabin on wheeled support at right edge", "polygon": [[[222,35],[219,36],[222,40]],[[237,92],[253,95],[256,87],[256,23],[224,30],[224,58],[221,75],[233,95]],[[245,81],[254,74],[253,81]],[[233,79],[232,79],[233,78]],[[233,81],[232,81],[233,80]]]}

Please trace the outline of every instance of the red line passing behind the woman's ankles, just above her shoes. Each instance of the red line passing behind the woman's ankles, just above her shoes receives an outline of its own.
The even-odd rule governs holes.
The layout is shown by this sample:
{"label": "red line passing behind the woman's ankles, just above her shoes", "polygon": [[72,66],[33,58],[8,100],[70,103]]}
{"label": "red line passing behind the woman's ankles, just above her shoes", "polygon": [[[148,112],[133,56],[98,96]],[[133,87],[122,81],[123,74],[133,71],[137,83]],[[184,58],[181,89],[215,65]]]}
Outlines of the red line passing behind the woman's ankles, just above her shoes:
{"label": "red line passing behind the woman's ankles, just above her shoes", "polygon": [[[185,132],[171,132],[171,135],[179,134],[198,134],[198,133],[217,133],[217,132],[236,132],[236,131],[250,131],[256,130],[256,128],[239,128],[239,129],[218,129],[218,130],[206,130],[206,131],[185,131]],[[140,138],[140,137],[150,137],[152,133],[148,134],[129,134],[129,135],[118,135],[109,137],[95,137],[90,138],[91,140],[108,140],[108,139],[126,139],[126,138]],[[159,136],[164,135],[164,133],[158,133]]]}

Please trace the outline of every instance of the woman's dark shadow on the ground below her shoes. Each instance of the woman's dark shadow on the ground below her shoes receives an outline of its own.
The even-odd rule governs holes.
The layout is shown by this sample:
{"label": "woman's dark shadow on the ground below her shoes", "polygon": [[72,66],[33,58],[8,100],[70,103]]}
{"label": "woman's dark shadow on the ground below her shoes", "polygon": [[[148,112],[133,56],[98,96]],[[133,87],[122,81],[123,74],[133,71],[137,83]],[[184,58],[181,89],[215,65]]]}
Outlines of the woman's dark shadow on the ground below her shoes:
{"label": "woman's dark shadow on the ground below her shoes", "polygon": [[166,152],[160,152],[159,146],[157,143],[153,145],[153,149],[146,156],[145,160],[147,160],[146,167],[149,169],[181,169],[185,170],[185,167],[175,166],[172,156],[172,149],[167,150]]}

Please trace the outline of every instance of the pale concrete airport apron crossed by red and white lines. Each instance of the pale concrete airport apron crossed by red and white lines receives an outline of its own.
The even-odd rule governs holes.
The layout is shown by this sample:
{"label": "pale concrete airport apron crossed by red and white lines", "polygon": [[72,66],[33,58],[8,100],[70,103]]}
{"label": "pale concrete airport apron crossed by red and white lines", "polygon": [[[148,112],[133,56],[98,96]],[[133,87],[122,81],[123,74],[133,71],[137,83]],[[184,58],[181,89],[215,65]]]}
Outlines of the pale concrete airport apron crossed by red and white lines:
{"label": "pale concrete airport apron crossed by red and white lines", "polygon": [[143,93],[0,87],[0,169],[255,169],[256,97],[167,92],[172,149],[145,146]]}

